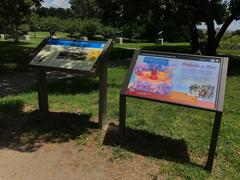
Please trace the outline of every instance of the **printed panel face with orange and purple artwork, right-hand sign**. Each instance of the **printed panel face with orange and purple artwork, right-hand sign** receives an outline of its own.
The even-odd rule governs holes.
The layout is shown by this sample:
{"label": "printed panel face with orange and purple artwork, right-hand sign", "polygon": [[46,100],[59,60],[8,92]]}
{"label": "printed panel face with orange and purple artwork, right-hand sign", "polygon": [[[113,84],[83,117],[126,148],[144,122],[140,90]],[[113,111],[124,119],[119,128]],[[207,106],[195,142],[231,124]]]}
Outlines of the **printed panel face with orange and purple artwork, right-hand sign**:
{"label": "printed panel face with orange and purple artwork, right-hand sign", "polygon": [[220,58],[140,54],[126,94],[216,110],[221,77]]}

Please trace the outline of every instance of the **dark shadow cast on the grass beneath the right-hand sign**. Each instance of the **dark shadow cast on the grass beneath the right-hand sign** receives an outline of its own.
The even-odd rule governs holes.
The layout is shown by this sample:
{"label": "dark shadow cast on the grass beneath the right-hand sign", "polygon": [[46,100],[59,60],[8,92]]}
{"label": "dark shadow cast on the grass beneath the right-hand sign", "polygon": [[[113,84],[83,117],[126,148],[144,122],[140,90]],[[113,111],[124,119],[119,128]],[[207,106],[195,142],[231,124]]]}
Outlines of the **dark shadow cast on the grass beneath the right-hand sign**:
{"label": "dark shadow cast on the grass beneath the right-hand sign", "polygon": [[[108,146],[119,145],[118,126],[109,125],[103,144]],[[183,139],[172,139],[142,130],[127,128],[126,141],[122,148],[143,156],[191,164],[187,144]]]}

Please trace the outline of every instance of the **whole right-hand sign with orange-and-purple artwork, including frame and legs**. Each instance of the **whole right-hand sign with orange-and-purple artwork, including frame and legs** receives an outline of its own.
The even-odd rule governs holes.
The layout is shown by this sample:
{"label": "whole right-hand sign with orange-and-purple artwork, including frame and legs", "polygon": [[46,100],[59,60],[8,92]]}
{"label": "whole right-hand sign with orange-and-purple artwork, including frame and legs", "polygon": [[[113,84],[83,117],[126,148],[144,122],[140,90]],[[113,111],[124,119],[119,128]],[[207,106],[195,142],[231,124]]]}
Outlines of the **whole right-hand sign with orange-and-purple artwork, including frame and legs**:
{"label": "whole right-hand sign with orange-and-purple artwork, including frame and legs", "polygon": [[124,143],[126,97],[215,112],[208,159],[212,170],[221,125],[228,58],[136,51],[120,92],[119,129]]}

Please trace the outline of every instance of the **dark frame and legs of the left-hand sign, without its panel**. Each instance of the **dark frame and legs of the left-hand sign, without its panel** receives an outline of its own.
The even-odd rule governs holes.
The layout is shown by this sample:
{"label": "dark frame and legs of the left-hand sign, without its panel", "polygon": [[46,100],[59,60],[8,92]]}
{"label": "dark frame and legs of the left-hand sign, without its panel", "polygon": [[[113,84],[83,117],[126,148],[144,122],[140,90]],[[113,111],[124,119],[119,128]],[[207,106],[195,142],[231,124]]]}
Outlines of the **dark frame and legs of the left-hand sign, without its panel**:
{"label": "dark frame and legs of the left-hand sign, without its panel", "polygon": [[[37,54],[47,45],[48,40],[50,38],[44,39],[37,48],[29,55],[28,64],[37,56]],[[67,40],[67,39],[66,39]],[[47,83],[46,83],[46,72],[51,71],[60,71],[66,73],[73,73],[79,75],[88,75],[92,77],[99,76],[99,119],[98,124],[99,128],[103,129],[104,122],[106,120],[106,111],[107,111],[107,66],[109,53],[113,46],[113,40],[109,39],[107,42],[105,41],[83,41],[83,42],[100,42],[105,43],[105,46],[95,62],[95,65],[90,71],[85,70],[76,70],[76,69],[65,69],[58,67],[49,67],[49,66],[41,66],[41,65],[29,65],[31,68],[37,70],[36,79],[37,79],[37,92],[38,92],[38,106],[40,114],[47,118],[49,113],[48,107],[48,93],[47,93]]]}

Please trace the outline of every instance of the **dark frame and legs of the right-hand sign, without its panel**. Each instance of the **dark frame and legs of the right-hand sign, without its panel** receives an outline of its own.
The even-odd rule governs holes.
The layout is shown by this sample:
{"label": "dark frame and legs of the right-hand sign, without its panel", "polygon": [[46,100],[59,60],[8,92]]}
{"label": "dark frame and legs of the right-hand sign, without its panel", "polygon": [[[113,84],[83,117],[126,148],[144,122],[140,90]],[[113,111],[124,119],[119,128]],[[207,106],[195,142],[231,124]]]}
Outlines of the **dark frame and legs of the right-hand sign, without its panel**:
{"label": "dark frame and legs of the right-hand sign, without its panel", "polygon": [[[127,94],[127,88],[128,84],[131,79],[131,75],[134,71],[135,64],[137,62],[138,56],[139,55],[160,55],[160,56],[165,56],[165,57],[188,57],[187,59],[190,60],[190,57],[192,58],[218,58],[220,59],[220,73],[219,73],[219,84],[218,84],[218,93],[216,96],[216,101],[217,101],[217,106],[216,109],[209,109],[209,108],[204,108],[204,107],[197,107],[197,106],[192,106],[192,105],[186,105],[186,104],[180,104],[180,103],[174,103],[174,102],[169,102],[169,101],[162,101],[158,99],[152,99],[152,98],[147,98],[147,97],[142,97],[142,96],[134,96]],[[199,55],[187,55],[187,54],[180,54],[180,53],[168,53],[168,52],[156,52],[156,51],[145,51],[145,50],[136,50],[129,70],[127,72],[124,84],[122,86],[122,89],[120,91],[120,97],[119,97],[119,132],[120,132],[120,141],[121,144],[124,145],[125,143],[125,131],[126,131],[126,98],[131,97],[131,98],[136,98],[136,99],[144,99],[144,100],[149,100],[149,101],[154,101],[154,102],[160,102],[160,103],[166,103],[166,104],[173,104],[177,106],[184,106],[184,107],[189,107],[189,108],[194,108],[194,109],[202,109],[205,111],[210,111],[215,113],[215,118],[214,118],[214,123],[212,127],[212,135],[210,139],[210,148],[208,152],[208,159],[206,162],[206,165],[204,169],[208,171],[212,171],[213,168],[213,162],[214,162],[214,156],[216,152],[216,147],[217,147],[217,141],[218,141],[218,134],[221,126],[221,120],[222,120],[222,114],[223,114],[223,104],[224,104],[224,95],[225,95],[225,87],[226,87],[226,79],[227,79],[227,69],[228,69],[228,58],[227,57],[216,57],[216,56],[199,56]]]}

